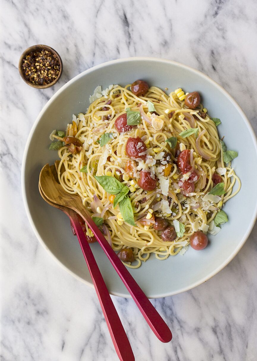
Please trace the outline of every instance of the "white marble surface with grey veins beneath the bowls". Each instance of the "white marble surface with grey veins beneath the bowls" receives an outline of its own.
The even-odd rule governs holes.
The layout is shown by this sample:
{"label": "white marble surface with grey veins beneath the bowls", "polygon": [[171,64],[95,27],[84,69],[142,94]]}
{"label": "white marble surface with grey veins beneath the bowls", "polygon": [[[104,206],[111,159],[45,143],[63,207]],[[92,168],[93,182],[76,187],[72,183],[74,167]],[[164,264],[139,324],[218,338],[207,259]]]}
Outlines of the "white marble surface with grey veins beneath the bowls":
{"label": "white marble surface with grey veins beneath the bowls", "polygon": [[[257,2],[249,0],[2,0],[1,360],[118,360],[96,293],[38,243],[21,196],[28,133],[65,82],[128,56],[176,60],[208,74],[238,101],[257,131]],[[19,76],[23,50],[48,44],[63,59],[56,86]],[[173,331],[162,344],[131,299],[112,297],[140,361],[257,360],[257,226],[218,275],[189,292],[152,300]]]}

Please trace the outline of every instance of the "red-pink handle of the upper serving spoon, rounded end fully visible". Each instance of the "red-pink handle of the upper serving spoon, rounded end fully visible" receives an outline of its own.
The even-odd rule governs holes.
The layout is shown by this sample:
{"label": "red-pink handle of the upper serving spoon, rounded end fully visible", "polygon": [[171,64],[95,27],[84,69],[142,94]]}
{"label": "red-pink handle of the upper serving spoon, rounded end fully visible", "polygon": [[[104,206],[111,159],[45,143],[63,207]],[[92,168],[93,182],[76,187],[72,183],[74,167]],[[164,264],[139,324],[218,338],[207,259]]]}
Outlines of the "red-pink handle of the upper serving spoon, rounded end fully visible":
{"label": "red-pink handle of the upper serving spoon, rounded end fully visible", "polygon": [[145,293],[143,293],[141,288],[138,286],[137,282],[129,273],[128,269],[117,257],[116,253],[111,248],[110,244],[107,242],[103,234],[99,231],[93,219],[90,216],[85,218],[85,216],[83,216],[82,213],[80,215],[85,219],[88,226],[92,230],[94,236],[101,245],[106,256],[109,258],[111,264],[114,266],[122,282],[127,287],[127,290],[129,291],[133,300],[136,302],[139,310],[141,311],[143,317],[150,326],[151,330],[158,337],[158,339],[161,340],[161,342],[169,342],[172,339],[172,333],[169,327],[167,326],[167,324],[164,322],[163,318],[161,318],[159,313],[156,311],[154,306],[146,297]]}

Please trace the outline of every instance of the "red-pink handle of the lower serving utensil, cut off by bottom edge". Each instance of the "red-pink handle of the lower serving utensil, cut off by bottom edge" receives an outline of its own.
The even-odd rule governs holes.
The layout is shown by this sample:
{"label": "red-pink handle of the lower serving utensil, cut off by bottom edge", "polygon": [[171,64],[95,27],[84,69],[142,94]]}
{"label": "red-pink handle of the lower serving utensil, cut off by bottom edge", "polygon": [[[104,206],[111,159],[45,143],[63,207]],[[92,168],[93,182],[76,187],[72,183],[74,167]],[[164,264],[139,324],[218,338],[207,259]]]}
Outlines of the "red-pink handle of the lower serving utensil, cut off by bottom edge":
{"label": "red-pink handle of the lower serving utensil, cut off by bottom edge", "polygon": [[80,247],[87,262],[90,276],[93,280],[94,288],[96,290],[103,315],[105,316],[108,330],[110,332],[117,355],[121,361],[134,361],[135,358],[129,340],[121,324],[114,304],[112,303],[109,291],[97,266],[96,260],[94,259],[87,239],[85,238],[79,220],[77,219],[76,212],[71,210],[68,216],[70,217],[72,225],[76,231],[77,238],[79,239]]}

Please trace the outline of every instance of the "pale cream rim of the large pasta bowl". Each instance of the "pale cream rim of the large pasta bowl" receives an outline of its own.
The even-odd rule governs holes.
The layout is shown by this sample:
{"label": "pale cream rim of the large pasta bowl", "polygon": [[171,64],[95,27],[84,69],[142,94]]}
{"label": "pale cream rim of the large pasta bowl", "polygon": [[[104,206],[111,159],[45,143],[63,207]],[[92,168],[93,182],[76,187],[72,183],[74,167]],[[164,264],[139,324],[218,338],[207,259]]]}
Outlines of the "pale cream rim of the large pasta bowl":
{"label": "pale cream rim of the large pasta bowl", "polygon": [[[238,112],[240,113],[240,115],[244,118],[245,121],[245,125],[248,127],[248,130],[250,131],[250,134],[252,136],[252,140],[253,140],[253,144],[255,146],[255,151],[257,154],[257,137],[256,134],[254,133],[254,130],[252,128],[251,123],[249,122],[248,118],[246,117],[246,115],[244,114],[242,108],[238,105],[238,103],[232,98],[232,96],[220,85],[218,84],[216,81],[214,81],[212,78],[210,78],[208,75],[202,73],[201,71],[192,68],[191,66],[182,64],[180,62],[177,61],[173,61],[173,60],[168,60],[168,59],[162,59],[162,58],[158,58],[158,57],[128,57],[128,58],[120,58],[120,59],[115,59],[115,60],[110,60],[98,65],[93,66],[92,68],[89,68],[85,71],[83,71],[82,73],[76,75],[74,78],[70,79],[70,81],[68,81],[66,84],[64,84],[56,93],[54,93],[54,95],[47,101],[47,103],[44,105],[44,107],[42,108],[42,110],[40,111],[39,115],[37,116],[31,130],[30,133],[28,135],[28,139],[25,145],[25,149],[24,149],[24,153],[23,153],[23,158],[22,158],[22,168],[21,168],[21,188],[22,188],[22,197],[23,197],[23,203],[25,206],[25,210],[26,210],[26,214],[28,217],[28,220],[30,222],[30,225],[37,237],[37,239],[39,240],[39,242],[41,243],[41,245],[46,249],[46,251],[48,251],[48,253],[50,253],[50,255],[54,258],[54,260],[63,268],[65,269],[69,274],[71,274],[72,276],[74,276],[76,279],[80,280],[81,282],[87,284],[88,286],[94,288],[93,284],[84,280],[83,278],[81,278],[80,276],[76,275],[73,271],[71,271],[69,268],[67,268],[67,266],[65,266],[64,264],[62,264],[61,261],[58,260],[58,258],[52,253],[50,252],[50,250],[48,249],[48,247],[46,246],[46,244],[44,243],[43,239],[40,237],[34,222],[32,220],[31,214],[30,214],[30,210],[29,210],[29,206],[27,203],[27,199],[26,199],[26,190],[25,190],[25,173],[26,173],[26,169],[25,169],[25,165],[26,165],[26,159],[27,159],[27,152],[28,152],[28,148],[30,145],[30,140],[31,137],[35,131],[35,128],[37,126],[37,124],[40,121],[41,116],[43,115],[43,113],[45,112],[45,110],[49,107],[50,104],[53,103],[53,101],[58,97],[58,95],[65,90],[68,86],[70,86],[70,84],[76,82],[77,79],[83,77],[85,74],[89,74],[97,69],[101,69],[104,68],[105,66],[108,65],[115,65],[115,64],[119,64],[119,63],[126,63],[126,62],[136,62],[136,61],[156,61],[156,62],[161,62],[161,63],[166,63],[166,64],[174,64],[177,66],[180,66],[181,68],[190,70],[196,74],[198,74],[199,77],[201,78],[205,78],[207,79],[209,82],[211,82],[214,86],[216,86],[222,93],[224,96],[226,96],[231,103],[235,106],[235,108],[238,110]],[[245,232],[244,237],[242,238],[241,242],[239,243],[238,247],[236,247],[236,249],[234,250],[234,252],[227,258],[226,261],[224,261],[218,268],[216,268],[212,273],[208,274],[207,276],[201,278],[200,280],[198,280],[197,282],[194,282],[193,284],[191,284],[190,286],[187,287],[182,287],[177,291],[174,292],[167,292],[167,293],[161,293],[161,294],[154,294],[154,292],[152,292],[152,294],[150,296],[147,296],[148,298],[162,298],[162,297],[168,297],[168,296],[173,296],[173,295],[177,295],[181,292],[185,292],[185,291],[189,291],[192,288],[195,288],[196,286],[199,286],[200,284],[206,282],[207,280],[211,279],[214,275],[216,275],[218,272],[220,272],[223,268],[225,268],[226,265],[229,264],[230,261],[232,261],[232,259],[238,254],[238,252],[240,251],[240,249],[243,247],[244,243],[246,242],[246,240],[248,239],[254,224],[256,222],[257,219],[257,204],[253,213],[253,216],[251,218],[251,221],[249,222],[249,226],[247,231]],[[114,296],[119,296],[119,297],[125,297],[125,298],[131,298],[130,295],[127,295],[125,293],[122,292],[110,292],[111,295]]]}

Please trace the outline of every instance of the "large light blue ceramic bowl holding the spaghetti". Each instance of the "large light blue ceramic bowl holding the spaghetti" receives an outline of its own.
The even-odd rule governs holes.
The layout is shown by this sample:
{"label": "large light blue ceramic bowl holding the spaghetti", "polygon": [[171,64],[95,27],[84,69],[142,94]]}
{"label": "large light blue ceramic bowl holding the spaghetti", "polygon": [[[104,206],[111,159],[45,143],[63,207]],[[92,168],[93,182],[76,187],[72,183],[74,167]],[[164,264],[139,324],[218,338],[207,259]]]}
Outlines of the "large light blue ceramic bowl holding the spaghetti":
{"label": "large light blue ceramic bowl holding the spaghetti", "polygon": [[[257,214],[257,143],[252,127],[238,104],[212,79],[188,66],[156,58],[128,58],[110,61],[77,75],[65,84],[44,106],[31,130],[22,166],[23,198],[31,226],[40,243],[67,271],[92,286],[79,242],[71,234],[67,216],[46,204],[38,191],[39,172],[46,163],[53,163],[57,154],[49,151],[49,134],[65,129],[72,114],[85,113],[89,96],[97,85],[125,85],[144,79],[170,92],[178,87],[199,91],[204,106],[212,117],[220,118],[220,137],[225,135],[229,149],[239,156],[232,165],[242,181],[238,195],[226,203],[229,216],[220,233],[210,236],[210,245],[203,251],[189,249],[185,255],[158,261],[152,256],[139,269],[130,270],[148,297],[165,297],[190,290],[224,268],[238,253],[249,236]],[[98,244],[93,253],[111,294],[128,297],[129,293]],[[53,276],[54,277],[54,276]]]}

